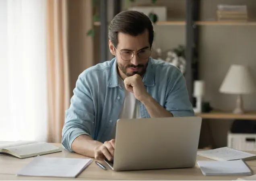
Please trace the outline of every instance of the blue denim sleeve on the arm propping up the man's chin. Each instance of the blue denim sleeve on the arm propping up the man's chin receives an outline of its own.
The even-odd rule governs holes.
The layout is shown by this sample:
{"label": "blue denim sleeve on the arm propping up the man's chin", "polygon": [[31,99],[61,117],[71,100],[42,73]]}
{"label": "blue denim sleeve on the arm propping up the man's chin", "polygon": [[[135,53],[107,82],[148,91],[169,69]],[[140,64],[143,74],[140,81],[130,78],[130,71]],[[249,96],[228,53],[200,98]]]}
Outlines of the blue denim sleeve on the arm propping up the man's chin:
{"label": "blue denim sleeve on the arm propping up the man's chin", "polygon": [[165,109],[173,114],[174,117],[194,116],[194,110],[188,96],[186,80],[180,71],[176,69],[171,75],[167,98],[165,101]]}

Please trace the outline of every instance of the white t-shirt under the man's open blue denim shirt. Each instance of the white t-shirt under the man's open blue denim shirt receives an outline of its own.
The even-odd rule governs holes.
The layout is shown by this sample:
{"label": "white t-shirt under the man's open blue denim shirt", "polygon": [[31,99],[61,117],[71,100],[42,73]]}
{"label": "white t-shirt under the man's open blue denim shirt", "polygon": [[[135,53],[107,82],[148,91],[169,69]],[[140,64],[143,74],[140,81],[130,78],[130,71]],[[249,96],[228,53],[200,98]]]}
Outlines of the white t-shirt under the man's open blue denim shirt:
{"label": "white t-shirt under the man's open blue denim shirt", "polygon": [[[119,115],[119,119],[138,119],[140,116],[139,102],[134,97],[133,93],[130,93],[126,90],[124,86],[124,81],[118,76],[118,82],[122,86],[125,91],[124,103],[122,105],[122,109]],[[116,125],[111,133],[111,139],[116,138]]]}

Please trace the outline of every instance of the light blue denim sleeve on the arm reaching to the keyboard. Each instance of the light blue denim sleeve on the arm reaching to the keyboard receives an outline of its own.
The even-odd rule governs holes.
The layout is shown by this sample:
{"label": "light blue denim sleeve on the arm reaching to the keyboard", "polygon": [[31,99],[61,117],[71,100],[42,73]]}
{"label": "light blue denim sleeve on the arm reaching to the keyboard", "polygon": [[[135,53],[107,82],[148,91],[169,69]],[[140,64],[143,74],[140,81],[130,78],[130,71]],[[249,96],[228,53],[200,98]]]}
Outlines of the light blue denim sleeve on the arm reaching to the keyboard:
{"label": "light blue denim sleeve on the arm reaching to the keyboard", "polygon": [[94,121],[93,99],[85,77],[78,78],[73,92],[62,129],[62,146],[69,152],[73,152],[71,145],[78,136],[91,136]]}

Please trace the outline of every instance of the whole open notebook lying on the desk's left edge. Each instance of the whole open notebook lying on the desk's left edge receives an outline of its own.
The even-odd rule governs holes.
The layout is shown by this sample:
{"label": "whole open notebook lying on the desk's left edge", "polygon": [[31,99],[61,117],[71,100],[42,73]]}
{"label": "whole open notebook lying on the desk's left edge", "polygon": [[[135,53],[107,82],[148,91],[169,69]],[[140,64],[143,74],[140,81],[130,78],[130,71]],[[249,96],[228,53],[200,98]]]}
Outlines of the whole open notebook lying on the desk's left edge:
{"label": "whole open notebook lying on the desk's left edge", "polygon": [[17,158],[29,158],[61,151],[60,148],[45,142],[18,141],[0,145],[0,153],[10,154]]}

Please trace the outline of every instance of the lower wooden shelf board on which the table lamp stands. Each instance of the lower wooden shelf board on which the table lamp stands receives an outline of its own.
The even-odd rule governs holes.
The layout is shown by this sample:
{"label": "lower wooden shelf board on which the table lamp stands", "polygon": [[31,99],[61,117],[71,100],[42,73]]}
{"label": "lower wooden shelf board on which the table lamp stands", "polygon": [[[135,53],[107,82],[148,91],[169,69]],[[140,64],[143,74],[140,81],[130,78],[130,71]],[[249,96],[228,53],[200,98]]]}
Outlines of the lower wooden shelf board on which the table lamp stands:
{"label": "lower wooden shelf board on which the table lamp stands", "polygon": [[256,112],[248,112],[238,115],[231,112],[213,111],[210,113],[196,113],[195,115],[202,117],[203,119],[248,119],[256,121]]}

